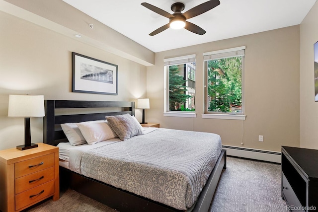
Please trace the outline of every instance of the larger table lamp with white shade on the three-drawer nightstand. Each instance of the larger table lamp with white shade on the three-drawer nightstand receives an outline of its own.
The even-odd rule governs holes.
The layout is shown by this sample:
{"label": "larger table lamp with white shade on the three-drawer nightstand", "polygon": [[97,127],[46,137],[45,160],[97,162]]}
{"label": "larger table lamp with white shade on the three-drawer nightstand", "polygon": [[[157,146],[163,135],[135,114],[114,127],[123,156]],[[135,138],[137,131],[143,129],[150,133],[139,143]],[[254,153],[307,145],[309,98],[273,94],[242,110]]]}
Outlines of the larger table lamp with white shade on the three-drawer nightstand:
{"label": "larger table lamp with white shade on the three-drawer nightstand", "polygon": [[37,147],[31,143],[30,117],[44,117],[43,95],[9,95],[8,117],[24,117],[24,145],[16,146],[25,150]]}

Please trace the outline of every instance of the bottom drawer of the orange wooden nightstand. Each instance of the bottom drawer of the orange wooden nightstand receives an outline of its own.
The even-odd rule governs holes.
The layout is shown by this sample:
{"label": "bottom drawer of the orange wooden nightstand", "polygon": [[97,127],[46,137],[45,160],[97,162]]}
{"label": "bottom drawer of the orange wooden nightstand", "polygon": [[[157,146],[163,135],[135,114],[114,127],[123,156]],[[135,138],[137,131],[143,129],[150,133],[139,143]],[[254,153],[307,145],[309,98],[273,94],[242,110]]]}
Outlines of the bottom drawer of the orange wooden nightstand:
{"label": "bottom drawer of the orange wooden nightstand", "polygon": [[15,195],[15,211],[28,206],[38,200],[48,197],[55,192],[54,180],[45,184],[29,189],[25,192]]}

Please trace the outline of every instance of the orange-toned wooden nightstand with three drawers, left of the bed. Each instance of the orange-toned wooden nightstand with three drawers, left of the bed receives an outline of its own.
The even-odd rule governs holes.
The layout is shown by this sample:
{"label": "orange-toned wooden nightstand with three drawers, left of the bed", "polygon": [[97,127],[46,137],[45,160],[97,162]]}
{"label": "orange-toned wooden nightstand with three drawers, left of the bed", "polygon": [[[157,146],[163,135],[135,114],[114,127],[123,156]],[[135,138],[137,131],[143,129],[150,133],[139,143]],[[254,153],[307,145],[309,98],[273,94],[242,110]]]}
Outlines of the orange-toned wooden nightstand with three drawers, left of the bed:
{"label": "orange-toned wooden nightstand with three drawers, left of the bed", "polygon": [[0,210],[19,212],[48,197],[60,198],[59,148],[0,150]]}

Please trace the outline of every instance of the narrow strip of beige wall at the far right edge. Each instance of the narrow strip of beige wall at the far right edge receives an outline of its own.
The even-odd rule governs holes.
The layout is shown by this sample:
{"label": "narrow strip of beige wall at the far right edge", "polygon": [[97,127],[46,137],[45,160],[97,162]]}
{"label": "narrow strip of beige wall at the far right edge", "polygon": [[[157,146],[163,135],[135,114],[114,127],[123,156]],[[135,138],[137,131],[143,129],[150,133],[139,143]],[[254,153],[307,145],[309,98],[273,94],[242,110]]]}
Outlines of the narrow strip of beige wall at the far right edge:
{"label": "narrow strip of beige wall at the far right edge", "polygon": [[318,2],[300,25],[300,146],[318,149],[318,102],[315,102],[314,44],[318,41]]}

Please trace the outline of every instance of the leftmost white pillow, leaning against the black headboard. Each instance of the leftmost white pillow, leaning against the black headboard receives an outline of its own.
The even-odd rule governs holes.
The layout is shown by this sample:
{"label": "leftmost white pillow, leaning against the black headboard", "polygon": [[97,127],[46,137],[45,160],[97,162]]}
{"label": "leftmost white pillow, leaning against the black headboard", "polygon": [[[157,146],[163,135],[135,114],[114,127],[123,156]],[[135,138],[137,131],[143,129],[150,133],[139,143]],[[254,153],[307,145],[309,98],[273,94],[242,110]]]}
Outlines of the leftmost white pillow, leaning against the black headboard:
{"label": "leftmost white pillow, leaning against the black headboard", "polygon": [[77,146],[86,143],[76,123],[61,124],[61,128],[72,146]]}

